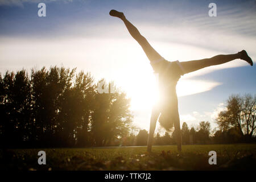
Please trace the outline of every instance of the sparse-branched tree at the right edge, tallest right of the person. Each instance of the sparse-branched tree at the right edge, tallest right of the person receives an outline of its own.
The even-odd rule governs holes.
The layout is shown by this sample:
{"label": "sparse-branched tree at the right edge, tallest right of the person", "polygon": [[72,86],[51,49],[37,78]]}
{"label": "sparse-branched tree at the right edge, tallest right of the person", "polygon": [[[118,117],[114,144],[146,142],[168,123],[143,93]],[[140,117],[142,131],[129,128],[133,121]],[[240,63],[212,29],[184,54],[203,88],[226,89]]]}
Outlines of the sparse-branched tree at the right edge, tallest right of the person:
{"label": "sparse-branched tree at the right edge, tallest right of the person", "polygon": [[237,127],[247,139],[251,139],[256,128],[256,95],[232,95],[226,101],[226,110],[221,111],[216,119],[222,131]]}

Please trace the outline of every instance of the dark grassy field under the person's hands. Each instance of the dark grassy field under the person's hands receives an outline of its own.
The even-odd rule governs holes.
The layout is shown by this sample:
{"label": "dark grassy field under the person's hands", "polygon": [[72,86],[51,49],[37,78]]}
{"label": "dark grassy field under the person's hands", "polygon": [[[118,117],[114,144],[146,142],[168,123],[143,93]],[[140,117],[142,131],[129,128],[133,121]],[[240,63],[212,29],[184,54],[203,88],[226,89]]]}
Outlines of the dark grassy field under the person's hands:
{"label": "dark grassy field under the person's hands", "polygon": [[[46,152],[46,165],[38,164],[38,152]],[[256,144],[214,144],[115,148],[43,148],[0,151],[0,169],[7,170],[255,170]],[[217,152],[210,165],[209,151]]]}

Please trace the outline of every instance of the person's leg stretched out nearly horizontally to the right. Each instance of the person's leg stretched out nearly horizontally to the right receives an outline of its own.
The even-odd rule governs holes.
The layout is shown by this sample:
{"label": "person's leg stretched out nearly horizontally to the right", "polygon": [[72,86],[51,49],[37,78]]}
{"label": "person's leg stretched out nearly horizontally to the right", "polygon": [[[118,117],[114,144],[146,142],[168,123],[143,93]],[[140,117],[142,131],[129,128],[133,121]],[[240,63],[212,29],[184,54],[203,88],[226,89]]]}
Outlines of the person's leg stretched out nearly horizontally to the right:
{"label": "person's leg stretched out nearly horizontally to the right", "polygon": [[251,66],[253,65],[253,61],[247,55],[245,50],[238,53],[230,54],[230,55],[217,55],[208,59],[183,61],[183,62],[180,62],[180,65],[184,69],[185,73],[190,73],[205,67],[210,67],[212,65],[228,63],[229,61],[232,61],[235,59],[245,60]]}

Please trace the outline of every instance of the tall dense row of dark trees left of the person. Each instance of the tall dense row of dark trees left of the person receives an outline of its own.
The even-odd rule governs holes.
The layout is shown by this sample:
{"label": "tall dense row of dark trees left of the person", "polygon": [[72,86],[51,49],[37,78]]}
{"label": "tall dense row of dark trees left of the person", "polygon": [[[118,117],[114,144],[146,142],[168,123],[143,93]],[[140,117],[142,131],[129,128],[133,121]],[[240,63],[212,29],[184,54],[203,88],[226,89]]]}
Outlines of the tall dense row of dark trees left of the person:
{"label": "tall dense row of dark trees left of the person", "polygon": [[[133,129],[124,92],[98,93],[90,73],[51,67],[1,76],[2,147],[108,146]],[[102,87],[104,89],[104,86]]]}

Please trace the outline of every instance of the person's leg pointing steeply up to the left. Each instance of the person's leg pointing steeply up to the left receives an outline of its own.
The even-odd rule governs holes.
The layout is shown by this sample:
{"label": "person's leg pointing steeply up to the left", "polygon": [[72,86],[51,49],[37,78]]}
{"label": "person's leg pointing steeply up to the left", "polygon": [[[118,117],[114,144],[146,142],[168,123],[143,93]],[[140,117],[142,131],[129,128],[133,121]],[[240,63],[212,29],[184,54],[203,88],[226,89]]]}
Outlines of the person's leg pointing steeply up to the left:
{"label": "person's leg pointing steeply up to the left", "polygon": [[127,30],[129,31],[130,35],[141,45],[143,51],[146,53],[148,59],[150,61],[160,60],[163,59],[162,56],[159,55],[158,52],[155,51],[154,48],[147,42],[147,39],[141,35],[138,29],[126,19],[125,15],[122,12],[111,10],[109,12],[111,16],[115,16],[123,20]]}

